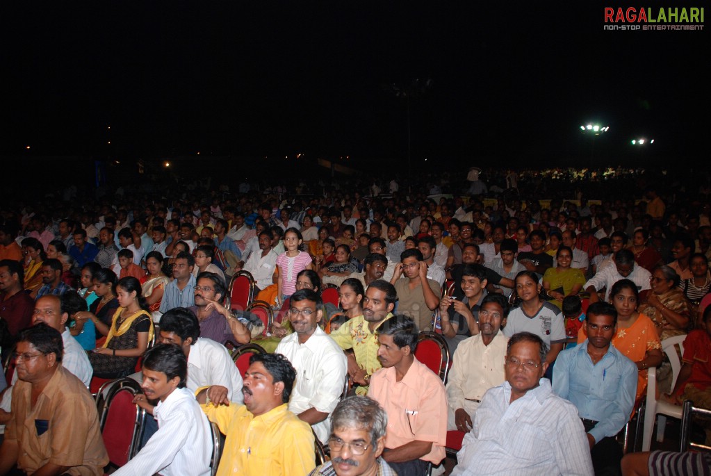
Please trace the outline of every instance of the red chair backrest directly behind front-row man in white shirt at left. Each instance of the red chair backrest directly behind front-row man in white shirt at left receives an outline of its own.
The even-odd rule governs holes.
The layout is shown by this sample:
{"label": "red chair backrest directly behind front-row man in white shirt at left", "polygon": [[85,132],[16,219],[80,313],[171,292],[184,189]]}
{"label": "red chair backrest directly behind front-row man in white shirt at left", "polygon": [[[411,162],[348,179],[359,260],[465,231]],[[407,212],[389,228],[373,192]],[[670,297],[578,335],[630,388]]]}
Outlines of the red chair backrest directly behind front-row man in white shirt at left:
{"label": "red chair backrest directly behind front-row man in white shirt at left", "polygon": [[119,379],[109,388],[100,413],[101,434],[109,462],[119,467],[138,453],[141,443],[146,411],[133,403],[134,396],[141,392],[141,386],[134,379]]}

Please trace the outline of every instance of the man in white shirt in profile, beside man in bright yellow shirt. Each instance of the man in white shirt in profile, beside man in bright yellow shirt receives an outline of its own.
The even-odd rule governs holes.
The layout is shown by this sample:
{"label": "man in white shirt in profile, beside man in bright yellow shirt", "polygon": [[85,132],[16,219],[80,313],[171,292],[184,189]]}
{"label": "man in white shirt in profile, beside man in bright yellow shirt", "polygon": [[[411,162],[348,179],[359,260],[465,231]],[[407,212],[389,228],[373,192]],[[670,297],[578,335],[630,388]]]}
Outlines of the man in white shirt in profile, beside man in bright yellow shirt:
{"label": "man in white shirt in profile, beside man in bright yellow shirt", "polygon": [[210,475],[210,422],[193,392],[186,389],[188,359],[178,345],[159,344],[143,359],[143,391],[134,399],[141,407],[157,399],[153,409],[158,431],[139,453],[114,472],[117,476]]}

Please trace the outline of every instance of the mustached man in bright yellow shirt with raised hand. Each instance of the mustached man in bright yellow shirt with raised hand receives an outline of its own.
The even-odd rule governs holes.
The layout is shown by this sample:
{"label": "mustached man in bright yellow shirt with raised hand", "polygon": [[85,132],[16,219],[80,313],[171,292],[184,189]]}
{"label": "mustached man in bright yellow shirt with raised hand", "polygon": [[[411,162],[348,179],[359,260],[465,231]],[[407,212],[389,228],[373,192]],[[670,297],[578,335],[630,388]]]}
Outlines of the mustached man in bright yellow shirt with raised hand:
{"label": "mustached man in bright yellow shirt with raised hand", "polygon": [[[198,393],[210,421],[225,434],[218,476],[307,475],[316,467],[314,433],[309,423],[287,409],[296,371],[281,354],[250,359],[242,394],[245,404],[230,404],[226,391]],[[225,389],[226,390],[226,389]]]}

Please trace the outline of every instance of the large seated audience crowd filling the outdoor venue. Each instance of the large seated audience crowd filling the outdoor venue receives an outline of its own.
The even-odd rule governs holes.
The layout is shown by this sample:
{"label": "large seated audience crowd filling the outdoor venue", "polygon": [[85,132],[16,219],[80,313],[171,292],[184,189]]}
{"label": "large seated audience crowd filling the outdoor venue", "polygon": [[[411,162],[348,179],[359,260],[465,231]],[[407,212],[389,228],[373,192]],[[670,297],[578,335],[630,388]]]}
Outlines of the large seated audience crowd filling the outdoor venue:
{"label": "large seated audience crowd filling the outdoor venue", "polygon": [[[294,180],[11,200],[0,474],[102,474],[87,388],[127,376],[154,418],[117,474],[210,474],[209,421],[226,435],[218,475],[442,474],[448,431],[456,475],[702,474],[685,468],[707,470],[705,454],[623,455],[616,438],[651,367],[664,399],[711,409],[711,188],[618,168],[507,171],[487,189],[476,171],[415,192]],[[537,195],[563,175],[574,195]],[[587,198],[616,180],[614,198]],[[269,328],[226,299],[240,271]],[[415,357],[421,331],[447,342],[446,382]],[[672,386],[661,342],[676,335]],[[240,375],[230,352],[250,342],[267,353]],[[314,444],[331,461],[316,467]]]}

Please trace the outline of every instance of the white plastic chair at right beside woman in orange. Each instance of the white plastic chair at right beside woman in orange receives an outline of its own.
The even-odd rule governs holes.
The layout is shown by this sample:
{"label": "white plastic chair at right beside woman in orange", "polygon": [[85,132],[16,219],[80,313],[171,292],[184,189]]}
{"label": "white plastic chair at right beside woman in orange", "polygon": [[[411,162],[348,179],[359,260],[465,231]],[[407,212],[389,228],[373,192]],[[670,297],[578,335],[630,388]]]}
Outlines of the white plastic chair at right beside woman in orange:
{"label": "white plastic chair at right beside woman in orange", "polygon": [[[662,351],[667,355],[672,369],[671,388],[676,385],[676,379],[679,376],[681,369],[681,361],[676,352],[675,346],[679,346],[680,353],[684,353],[684,340],[686,335],[675,335],[662,341]],[[656,369],[649,369],[649,381],[647,382],[647,404],[644,409],[644,431],[642,434],[642,451],[649,451],[652,444],[652,430],[654,428],[654,420],[659,415],[657,421],[657,441],[664,440],[664,429],[666,427],[666,417],[681,419],[682,407],[680,405],[670,404],[668,401],[658,400],[656,396],[657,379]]]}

